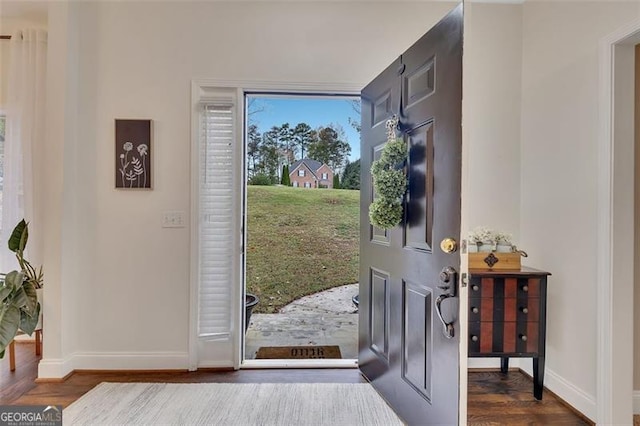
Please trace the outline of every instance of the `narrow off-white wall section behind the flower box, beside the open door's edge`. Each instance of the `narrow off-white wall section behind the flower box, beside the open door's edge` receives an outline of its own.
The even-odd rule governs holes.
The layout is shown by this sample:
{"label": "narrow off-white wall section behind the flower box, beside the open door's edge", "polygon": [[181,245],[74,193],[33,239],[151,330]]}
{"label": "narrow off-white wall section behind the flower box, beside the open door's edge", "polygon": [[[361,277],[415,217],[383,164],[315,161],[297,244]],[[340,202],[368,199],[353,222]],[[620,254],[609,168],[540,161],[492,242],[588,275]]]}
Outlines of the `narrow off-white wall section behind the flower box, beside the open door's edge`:
{"label": "narrow off-white wall section behind the flower box, beside the open door's edge", "polygon": [[488,226],[519,245],[522,5],[466,3],[463,61],[462,232]]}

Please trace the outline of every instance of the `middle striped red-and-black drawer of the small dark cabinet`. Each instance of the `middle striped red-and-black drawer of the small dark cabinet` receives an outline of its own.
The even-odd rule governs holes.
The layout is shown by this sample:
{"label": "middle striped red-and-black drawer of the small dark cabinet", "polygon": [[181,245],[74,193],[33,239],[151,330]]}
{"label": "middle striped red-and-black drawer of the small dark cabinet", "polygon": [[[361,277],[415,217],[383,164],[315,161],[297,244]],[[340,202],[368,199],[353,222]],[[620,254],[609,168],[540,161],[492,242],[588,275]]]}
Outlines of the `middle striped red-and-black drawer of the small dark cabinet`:
{"label": "middle striped red-and-black drawer of the small dark cabinet", "polygon": [[539,297],[469,298],[469,321],[538,321]]}

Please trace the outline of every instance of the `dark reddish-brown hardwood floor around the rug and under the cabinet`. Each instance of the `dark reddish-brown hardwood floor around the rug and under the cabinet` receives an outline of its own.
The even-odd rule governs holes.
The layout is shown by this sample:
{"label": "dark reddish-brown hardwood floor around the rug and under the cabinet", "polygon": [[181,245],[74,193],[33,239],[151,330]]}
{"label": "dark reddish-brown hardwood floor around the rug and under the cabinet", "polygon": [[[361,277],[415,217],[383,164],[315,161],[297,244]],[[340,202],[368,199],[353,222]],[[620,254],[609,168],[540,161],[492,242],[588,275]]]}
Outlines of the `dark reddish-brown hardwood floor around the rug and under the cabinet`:
{"label": "dark reddish-brown hardwood floor around the rug and under the cabinet", "polygon": [[[100,382],[364,383],[356,369],[240,370],[226,372],[78,372],[62,383],[35,383],[39,357],[33,343],[16,344],[16,371],[0,360],[0,405],[68,406]],[[553,394],[533,397],[519,371],[469,373],[469,425],[588,425]]]}

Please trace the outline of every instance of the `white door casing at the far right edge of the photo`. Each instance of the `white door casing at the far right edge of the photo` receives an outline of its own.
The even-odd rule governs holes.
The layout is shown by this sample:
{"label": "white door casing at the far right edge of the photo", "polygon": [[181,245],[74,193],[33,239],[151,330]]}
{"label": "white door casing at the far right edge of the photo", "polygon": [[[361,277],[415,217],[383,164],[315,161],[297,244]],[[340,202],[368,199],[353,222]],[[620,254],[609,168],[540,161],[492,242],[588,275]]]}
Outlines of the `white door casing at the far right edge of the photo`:
{"label": "white door casing at the far right edge of the photo", "polygon": [[[634,44],[640,20],[599,46],[597,229],[597,418],[625,424],[633,415]],[[631,192],[633,194],[633,192]],[[615,309],[614,309],[615,306]]]}

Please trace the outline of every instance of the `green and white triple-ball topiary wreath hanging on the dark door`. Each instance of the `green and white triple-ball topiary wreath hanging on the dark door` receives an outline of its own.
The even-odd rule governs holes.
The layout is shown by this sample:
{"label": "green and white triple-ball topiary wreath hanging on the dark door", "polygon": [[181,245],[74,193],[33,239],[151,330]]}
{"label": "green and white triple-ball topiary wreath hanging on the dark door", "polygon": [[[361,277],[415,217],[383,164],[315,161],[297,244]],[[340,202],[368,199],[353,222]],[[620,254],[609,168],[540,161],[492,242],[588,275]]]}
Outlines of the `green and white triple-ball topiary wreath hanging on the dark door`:
{"label": "green and white triple-ball topiary wreath hanging on the dark door", "polygon": [[402,222],[402,202],[407,191],[407,145],[396,136],[398,118],[387,120],[387,144],[380,158],[371,165],[376,198],[369,206],[369,219],[378,228],[391,229]]}

